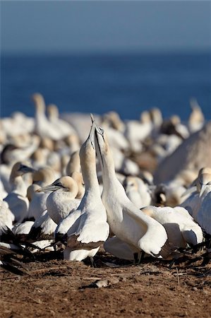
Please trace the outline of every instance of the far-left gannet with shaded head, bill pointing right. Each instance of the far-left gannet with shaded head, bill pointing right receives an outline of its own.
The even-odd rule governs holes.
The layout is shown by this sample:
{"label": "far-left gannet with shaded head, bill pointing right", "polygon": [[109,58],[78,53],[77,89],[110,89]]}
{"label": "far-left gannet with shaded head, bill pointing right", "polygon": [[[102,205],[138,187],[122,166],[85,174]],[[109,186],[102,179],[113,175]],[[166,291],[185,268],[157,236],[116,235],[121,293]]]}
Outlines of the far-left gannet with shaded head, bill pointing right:
{"label": "far-left gannet with shaded head, bill pointing right", "polygon": [[28,213],[29,201],[26,197],[27,188],[22,179],[22,176],[28,172],[35,172],[35,170],[23,163],[13,165],[10,176],[11,192],[4,199],[15,216],[16,222],[19,223],[27,217]]}

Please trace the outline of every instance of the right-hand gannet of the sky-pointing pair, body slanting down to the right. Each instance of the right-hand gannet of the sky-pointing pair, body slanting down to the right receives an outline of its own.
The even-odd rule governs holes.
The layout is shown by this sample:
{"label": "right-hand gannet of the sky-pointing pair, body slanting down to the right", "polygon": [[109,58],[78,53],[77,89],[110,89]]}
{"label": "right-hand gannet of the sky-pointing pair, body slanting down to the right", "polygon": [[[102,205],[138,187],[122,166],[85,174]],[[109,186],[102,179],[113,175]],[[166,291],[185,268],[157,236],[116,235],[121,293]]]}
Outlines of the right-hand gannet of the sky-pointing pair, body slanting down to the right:
{"label": "right-hand gannet of the sky-pointing pair, body slanting down to the right", "polygon": [[169,254],[166,230],[128,199],[115,175],[107,135],[97,125],[96,129],[97,157],[102,167],[102,201],[111,231],[131,247],[142,249],[153,257],[166,257]]}

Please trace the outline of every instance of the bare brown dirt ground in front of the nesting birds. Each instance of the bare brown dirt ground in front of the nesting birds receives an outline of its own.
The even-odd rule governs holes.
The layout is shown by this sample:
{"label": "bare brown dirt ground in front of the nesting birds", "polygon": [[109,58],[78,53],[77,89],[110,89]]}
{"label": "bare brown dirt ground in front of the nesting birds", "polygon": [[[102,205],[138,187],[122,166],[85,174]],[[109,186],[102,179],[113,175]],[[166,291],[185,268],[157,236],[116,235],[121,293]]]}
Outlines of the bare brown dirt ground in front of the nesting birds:
{"label": "bare brown dirt ground in front of the nesting birds", "polygon": [[[22,276],[0,271],[1,318],[211,317],[211,261],[203,252],[171,269],[169,261],[134,266],[103,252],[93,268],[89,260],[63,261],[59,253],[28,262]],[[97,288],[96,281],[107,286]]]}

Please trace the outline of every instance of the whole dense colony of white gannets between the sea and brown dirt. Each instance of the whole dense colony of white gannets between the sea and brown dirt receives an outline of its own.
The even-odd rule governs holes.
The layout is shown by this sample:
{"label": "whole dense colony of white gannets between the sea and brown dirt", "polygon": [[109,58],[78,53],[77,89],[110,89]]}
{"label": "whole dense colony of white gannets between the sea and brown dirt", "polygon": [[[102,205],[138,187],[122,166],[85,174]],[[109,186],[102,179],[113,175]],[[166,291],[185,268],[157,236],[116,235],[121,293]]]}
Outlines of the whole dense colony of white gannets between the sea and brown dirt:
{"label": "whole dense colony of white gannets between the sea and brown dirt", "polygon": [[58,250],[92,266],[99,249],[131,264],[209,252],[211,122],[196,100],[186,123],[158,108],[128,121],[116,112],[60,116],[39,93],[32,100],[34,118],[0,121],[4,269]]}

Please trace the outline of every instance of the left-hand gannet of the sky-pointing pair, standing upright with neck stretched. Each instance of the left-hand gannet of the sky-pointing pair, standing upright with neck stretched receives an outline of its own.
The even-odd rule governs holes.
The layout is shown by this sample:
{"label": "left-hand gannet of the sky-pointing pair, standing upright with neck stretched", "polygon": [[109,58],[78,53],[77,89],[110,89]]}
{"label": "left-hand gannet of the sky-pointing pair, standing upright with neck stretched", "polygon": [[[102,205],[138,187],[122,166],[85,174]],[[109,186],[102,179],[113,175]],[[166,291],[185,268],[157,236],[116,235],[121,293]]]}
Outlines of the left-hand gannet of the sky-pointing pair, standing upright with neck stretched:
{"label": "left-hand gannet of the sky-pointing pair, standing upright with neck stretched", "polygon": [[102,204],[96,172],[95,122],[88,139],[80,148],[80,163],[85,194],[78,210],[71,213],[71,216],[78,216],[79,213],[80,216],[67,232],[67,247],[64,250],[64,259],[71,261],[94,257],[109,236],[107,213]]}

